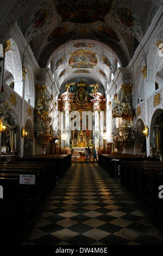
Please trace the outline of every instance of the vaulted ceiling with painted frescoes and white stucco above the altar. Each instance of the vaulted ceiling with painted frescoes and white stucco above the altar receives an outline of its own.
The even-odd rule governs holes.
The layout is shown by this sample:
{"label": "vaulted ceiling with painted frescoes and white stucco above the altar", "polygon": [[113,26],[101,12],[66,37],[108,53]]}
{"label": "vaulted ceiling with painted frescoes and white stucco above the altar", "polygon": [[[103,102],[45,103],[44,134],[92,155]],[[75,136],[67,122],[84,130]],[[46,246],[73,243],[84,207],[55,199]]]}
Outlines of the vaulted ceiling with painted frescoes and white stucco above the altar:
{"label": "vaulted ceiling with painted frescoes and white stucco above the altar", "polygon": [[35,58],[58,83],[87,77],[104,84],[117,62],[126,66],[159,0],[37,0],[18,18]]}

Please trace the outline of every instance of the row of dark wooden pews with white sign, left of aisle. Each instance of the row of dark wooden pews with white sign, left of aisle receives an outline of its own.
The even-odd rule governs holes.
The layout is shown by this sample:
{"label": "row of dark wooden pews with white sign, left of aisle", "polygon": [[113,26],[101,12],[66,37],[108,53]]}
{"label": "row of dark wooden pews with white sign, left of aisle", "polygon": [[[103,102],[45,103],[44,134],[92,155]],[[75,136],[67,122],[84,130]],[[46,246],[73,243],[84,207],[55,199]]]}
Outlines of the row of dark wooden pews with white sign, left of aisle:
{"label": "row of dark wooden pews with white sign, left of aisle", "polygon": [[[20,244],[26,240],[36,216],[70,165],[71,155],[40,155],[0,162],[0,244]],[[30,179],[35,179],[34,184],[28,184]]]}

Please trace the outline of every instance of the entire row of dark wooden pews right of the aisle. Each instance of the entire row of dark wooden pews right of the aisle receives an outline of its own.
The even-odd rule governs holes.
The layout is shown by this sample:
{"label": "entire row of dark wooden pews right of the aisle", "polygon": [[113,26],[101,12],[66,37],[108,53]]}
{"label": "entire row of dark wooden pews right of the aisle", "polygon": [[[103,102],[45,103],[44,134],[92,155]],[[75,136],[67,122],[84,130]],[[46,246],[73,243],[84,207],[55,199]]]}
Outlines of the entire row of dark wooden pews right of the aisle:
{"label": "entire row of dark wooden pews right of the aisle", "polygon": [[98,163],[110,173],[111,178],[120,176],[121,186],[163,228],[163,198],[159,198],[159,187],[163,187],[163,162],[127,154],[98,157]]}

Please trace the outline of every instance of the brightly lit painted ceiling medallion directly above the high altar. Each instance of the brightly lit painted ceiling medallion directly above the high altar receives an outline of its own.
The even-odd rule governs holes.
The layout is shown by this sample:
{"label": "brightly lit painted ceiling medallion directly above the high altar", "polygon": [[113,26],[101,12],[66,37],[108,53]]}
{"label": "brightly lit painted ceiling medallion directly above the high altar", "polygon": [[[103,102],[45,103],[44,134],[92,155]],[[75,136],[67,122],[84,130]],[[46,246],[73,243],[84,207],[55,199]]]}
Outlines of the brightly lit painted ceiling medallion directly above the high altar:
{"label": "brightly lit painted ceiling medallion directly above the high altar", "polygon": [[87,69],[97,65],[96,53],[87,49],[79,49],[71,53],[68,61],[71,68]]}

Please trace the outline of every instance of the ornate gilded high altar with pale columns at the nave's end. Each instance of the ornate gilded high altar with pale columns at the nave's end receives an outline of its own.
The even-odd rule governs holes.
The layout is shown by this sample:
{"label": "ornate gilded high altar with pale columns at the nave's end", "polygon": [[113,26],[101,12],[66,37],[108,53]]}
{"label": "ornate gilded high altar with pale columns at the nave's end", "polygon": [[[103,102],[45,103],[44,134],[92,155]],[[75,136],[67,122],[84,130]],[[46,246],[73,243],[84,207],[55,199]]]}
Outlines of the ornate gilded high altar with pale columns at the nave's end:
{"label": "ornate gilded high altar with pale columns at the nave's end", "polygon": [[[61,133],[64,132],[67,135],[66,141],[61,141],[61,148],[96,147],[98,149],[103,146],[101,136],[103,125],[100,123],[100,112],[104,112],[105,119],[106,100],[104,95],[98,92],[98,88],[98,84],[87,85],[82,78],[79,82],[66,84],[66,91],[60,95],[58,100],[58,109],[64,113],[65,120],[60,130]],[[74,124],[73,129],[70,129],[71,114],[74,111],[78,112],[78,124]],[[87,113],[84,129],[83,112]]]}

